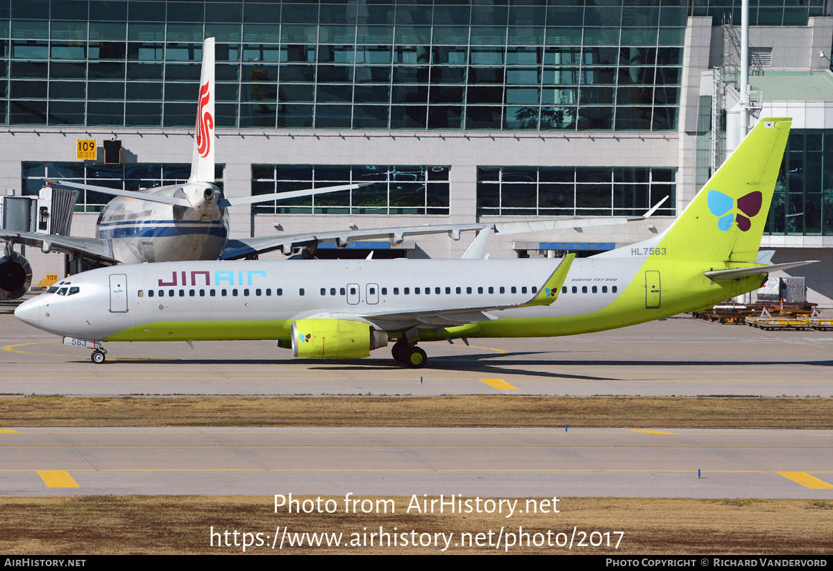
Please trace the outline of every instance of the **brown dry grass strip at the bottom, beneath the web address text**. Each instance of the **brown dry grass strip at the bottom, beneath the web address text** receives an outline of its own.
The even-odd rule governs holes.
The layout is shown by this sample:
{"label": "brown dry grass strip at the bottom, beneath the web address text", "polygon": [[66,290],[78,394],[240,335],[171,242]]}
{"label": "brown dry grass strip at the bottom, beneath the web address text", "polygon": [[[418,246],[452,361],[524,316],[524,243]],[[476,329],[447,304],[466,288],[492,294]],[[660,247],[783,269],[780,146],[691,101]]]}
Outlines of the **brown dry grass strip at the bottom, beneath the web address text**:
{"label": "brown dry grass strip at the bottom, beneath the web address text", "polygon": [[[312,498],[312,496],[306,496]],[[304,496],[300,497],[301,499]],[[334,498],[342,502],[343,498]],[[375,499],[375,498],[373,498]],[[420,534],[453,533],[446,553],[504,552],[492,544],[501,526],[504,533],[517,533],[522,526],[530,535],[551,531],[552,541],[558,533],[571,537],[579,532],[623,532],[618,549],[613,547],[579,547],[579,536],[572,549],[543,545],[515,545],[512,554],[831,554],[830,533],[833,503],[806,499],[560,499],[559,514],[516,514],[511,519],[487,514],[404,514],[398,506],[407,506],[409,498],[394,497],[397,514],[275,514],[272,497],[265,496],[92,496],[75,498],[0,498],[2,534],[0,552],[11,554],[242,554],[242,545],[233,546],[233,532],[261,533],[272,538],[275,529],[284,526],[292,533],[342,533],[342,544],[359,534],[369,543],[369,534],[381,525],[390,533],[411,531]],[[523,500],[519,500],[523,501]],[[341,504],[340,504],[341,506]],[[232,546],[212,547],[210,531],[228,531]],[[397,528],[394,532],[393,528]],[[367,529],[365,529],[367,528]],[[483,536],[482,547],[461,546],[461,534]],[[367,535],[365,535],[367,534]],[[222,535],[225,538],[225,535]],[[427,536],[422,536],[426,539]],[[618,534],[611,534],[618,539]],[[598,542],[599,536],[594,536]],[[563,542],[565,538],[561,538]],[[397,539],[400,541],[401,537]],[[223,539],[225,541],[225,539]],[[271,539],[270,539],[271,541]],[[391,539],[392,541],[392,539]],[[274,551],[271,544],[252,546],[247,554],[439,554],[441,548],[397,547],[387,544],[347,547],[288,547]],[[454,544],[457,545],[454,545]],[[441,545],[442,545],[441,541]]]}

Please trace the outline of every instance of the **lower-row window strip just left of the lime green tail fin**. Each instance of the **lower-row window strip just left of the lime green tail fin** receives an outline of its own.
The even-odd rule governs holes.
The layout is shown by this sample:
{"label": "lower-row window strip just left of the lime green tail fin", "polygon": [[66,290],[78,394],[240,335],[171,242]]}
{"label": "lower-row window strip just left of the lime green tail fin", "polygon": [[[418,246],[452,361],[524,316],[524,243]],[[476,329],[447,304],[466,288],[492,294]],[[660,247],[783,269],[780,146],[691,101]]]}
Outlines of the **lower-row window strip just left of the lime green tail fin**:
{"label": "lower-row window strip just left of the lime green tail fin", "polygon": [[481,166],[478,216],[676,215],[676,171],[664,168]]}

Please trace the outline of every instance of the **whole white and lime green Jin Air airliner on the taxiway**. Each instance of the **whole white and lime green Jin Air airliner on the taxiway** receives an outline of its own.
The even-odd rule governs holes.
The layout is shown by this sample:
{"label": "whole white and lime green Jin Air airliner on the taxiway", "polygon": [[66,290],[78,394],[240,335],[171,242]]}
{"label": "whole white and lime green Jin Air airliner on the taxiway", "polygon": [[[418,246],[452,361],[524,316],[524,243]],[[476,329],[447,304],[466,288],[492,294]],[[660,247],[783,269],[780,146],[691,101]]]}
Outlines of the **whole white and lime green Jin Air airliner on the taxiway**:
{"label": "whole white and lime green Jin Air airliner on the taxiway", "polygon": [[393,342],[416,368],[424,341],[574,335],[698,310],[811,263],[756,262],[790,123],[762,120],[666,231],[598,256],[118,266],[60,281],[15,315],[97,363],[102,341],[272,339],[307,359]]}

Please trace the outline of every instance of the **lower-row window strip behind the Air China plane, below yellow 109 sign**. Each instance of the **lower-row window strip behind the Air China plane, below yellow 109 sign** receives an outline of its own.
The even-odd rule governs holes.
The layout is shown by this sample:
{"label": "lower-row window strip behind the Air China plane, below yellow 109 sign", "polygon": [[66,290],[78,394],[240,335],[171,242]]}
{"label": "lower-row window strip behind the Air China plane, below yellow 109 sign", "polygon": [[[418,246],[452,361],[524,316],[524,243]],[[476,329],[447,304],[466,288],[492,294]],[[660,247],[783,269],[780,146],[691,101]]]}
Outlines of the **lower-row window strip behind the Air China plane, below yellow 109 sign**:
{"label": "lower-row window strip behind the Air China plane, below yellow 109 sign", "polygon": [[[223,165],[215,168],[216,184],[222,190]],[[37,195],[43,177],[62,181],[106,186],[123,191],[137,191],[152,186],[183,184],[191,172],[191,165],[180,163],[137,162],[122,165],[84,162],[23,162],[21,188],[24,195]],[[102,192],[81,190],[75,203],[77,212],[100,212],[114,196]]]}

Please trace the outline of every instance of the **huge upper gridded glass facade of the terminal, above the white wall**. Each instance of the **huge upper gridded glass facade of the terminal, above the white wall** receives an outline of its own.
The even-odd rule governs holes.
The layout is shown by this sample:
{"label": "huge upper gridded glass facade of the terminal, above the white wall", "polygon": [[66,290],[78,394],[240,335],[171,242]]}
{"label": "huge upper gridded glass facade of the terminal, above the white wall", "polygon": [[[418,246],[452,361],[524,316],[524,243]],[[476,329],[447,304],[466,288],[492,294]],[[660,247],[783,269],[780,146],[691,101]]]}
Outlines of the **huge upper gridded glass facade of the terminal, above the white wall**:
{"label": "huge upper gridded glass facade of the terminal, above the white wall", "polygon": [[24,4],[0,124],[190,127],[214,36],[217,127],[676,130],[681,0]]}

